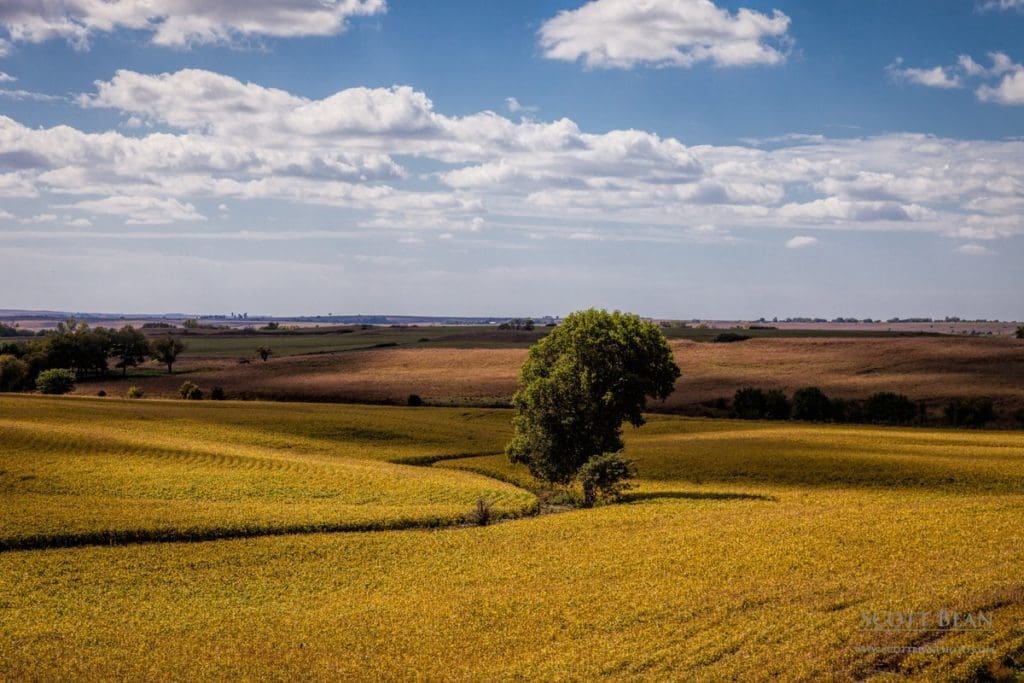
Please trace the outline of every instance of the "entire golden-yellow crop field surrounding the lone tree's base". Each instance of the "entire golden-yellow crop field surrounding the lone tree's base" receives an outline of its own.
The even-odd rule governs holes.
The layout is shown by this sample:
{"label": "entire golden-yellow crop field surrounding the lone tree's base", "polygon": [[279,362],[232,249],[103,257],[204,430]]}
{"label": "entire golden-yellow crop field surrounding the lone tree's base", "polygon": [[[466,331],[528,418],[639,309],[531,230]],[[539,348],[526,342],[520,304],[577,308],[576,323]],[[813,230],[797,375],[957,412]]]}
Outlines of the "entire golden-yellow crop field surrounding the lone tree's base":
{"label": "entire golden-yellow crop field surrounding the lone tree's base", "polygon": [[0,398],[0,679],[1021,675],[1020,432],[652,417],[625,502],[466,526],[508,419]]}

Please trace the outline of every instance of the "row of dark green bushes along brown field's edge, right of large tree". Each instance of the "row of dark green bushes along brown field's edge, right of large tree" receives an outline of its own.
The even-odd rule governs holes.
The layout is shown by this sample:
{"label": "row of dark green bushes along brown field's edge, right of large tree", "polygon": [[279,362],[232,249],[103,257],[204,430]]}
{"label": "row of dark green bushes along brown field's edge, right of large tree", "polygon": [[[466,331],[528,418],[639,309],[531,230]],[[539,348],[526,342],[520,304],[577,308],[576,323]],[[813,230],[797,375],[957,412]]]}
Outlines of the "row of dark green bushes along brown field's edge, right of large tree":
{"label": "row of dark green bushes along brown field's edge, right of large tree", "polygon": [[[914,402],[901,393],[879,391],[865,400],[829,398],[818,387],[798,389],[791,400],[778,389],[764,391],[744,387],[732,399],[732,413],[742,420],[803,420],[805,422],[856,422],[876,425],[908,425],[928,422],[924,401]],[[945,424],[982,427],[995,420],[988,398],[954,398],[942,411]]]}

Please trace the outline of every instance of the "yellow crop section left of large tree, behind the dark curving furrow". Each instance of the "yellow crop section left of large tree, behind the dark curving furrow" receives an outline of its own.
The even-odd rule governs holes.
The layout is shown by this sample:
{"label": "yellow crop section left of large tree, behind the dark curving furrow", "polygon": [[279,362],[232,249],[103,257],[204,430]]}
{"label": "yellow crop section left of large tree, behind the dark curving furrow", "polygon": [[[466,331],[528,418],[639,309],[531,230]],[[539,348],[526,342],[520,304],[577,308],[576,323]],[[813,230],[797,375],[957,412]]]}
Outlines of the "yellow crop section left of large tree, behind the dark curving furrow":
{"label": "yellow crop section left of large tree, behind the dark curving furrow", "polygon": [[477,498],[531,497],[479,476],[390,464],[493,453],[473,411],[0,398],[0,548],[446,523]]}

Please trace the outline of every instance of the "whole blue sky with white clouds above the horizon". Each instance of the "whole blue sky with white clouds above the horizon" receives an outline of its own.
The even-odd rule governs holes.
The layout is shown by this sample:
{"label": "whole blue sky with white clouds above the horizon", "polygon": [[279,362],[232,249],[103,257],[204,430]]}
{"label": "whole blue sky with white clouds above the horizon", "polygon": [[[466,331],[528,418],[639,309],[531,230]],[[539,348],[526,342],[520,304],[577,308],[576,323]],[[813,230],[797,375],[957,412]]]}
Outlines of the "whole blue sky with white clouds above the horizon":
{"label": "whole blue sky with white clouds above the horizon", "polygon": [[1024,0],[4,0],[0,308],[1024,318]]}

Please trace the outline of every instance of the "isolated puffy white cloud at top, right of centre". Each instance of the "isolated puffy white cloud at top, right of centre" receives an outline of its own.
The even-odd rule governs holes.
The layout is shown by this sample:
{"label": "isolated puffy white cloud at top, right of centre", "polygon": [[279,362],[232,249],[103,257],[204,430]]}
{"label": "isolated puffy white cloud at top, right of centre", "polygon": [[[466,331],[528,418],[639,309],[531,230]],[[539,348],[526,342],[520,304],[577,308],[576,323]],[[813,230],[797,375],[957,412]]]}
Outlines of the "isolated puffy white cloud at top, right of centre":
{"label": "isolated puffy white cloud at top, right of centre", "polygon": [[769,15],[730,13],[711,0],[592,0],[545,22],[540,43],[549,59],[589,68],[749,67],[784,61],[788,28],[777,9]]}

